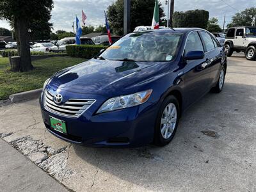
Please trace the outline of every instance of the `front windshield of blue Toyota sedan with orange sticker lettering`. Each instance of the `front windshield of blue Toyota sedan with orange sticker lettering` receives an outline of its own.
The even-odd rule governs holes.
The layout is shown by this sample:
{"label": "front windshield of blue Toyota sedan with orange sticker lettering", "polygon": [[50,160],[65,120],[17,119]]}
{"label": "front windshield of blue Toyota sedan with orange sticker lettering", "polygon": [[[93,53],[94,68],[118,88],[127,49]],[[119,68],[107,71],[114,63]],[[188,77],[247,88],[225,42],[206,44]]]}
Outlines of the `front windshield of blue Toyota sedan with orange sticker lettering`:
{"label": "front windshield of blue Toyota sedan with orange sticker lettering", "polygon": [[106,60],[171,61],[175,58],[183,33],[145,31],[124,36],[99,58]]}

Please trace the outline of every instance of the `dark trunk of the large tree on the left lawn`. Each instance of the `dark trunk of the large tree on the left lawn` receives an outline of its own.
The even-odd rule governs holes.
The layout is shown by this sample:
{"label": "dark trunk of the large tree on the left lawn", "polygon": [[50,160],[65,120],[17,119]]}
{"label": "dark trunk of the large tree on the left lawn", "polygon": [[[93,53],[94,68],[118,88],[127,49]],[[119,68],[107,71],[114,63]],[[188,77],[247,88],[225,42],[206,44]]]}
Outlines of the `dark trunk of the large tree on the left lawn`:
{"label": "dark trunk of the large tree on the left lawn", "polygon": [[19,68],[20,72],[32,70],[33,65],[31,64],[28,22],[26,18],[17,18],[15,20],[15,33],[18,45],[18,55],[20,56],[20,62],[15,63],[15,65],[20,66],[13,67],[13,71],[17,71],[17,68]]}

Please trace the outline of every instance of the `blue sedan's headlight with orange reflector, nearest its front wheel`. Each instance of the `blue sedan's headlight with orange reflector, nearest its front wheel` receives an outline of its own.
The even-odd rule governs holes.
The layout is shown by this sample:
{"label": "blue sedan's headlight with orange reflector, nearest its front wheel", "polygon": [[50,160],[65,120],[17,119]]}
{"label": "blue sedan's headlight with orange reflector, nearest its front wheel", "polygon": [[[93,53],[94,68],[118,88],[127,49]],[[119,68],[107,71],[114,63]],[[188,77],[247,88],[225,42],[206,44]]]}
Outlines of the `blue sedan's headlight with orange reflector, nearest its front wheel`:
{"label": "blue sedan's headlight with orange reflector, nearest its front wheel", "polygon": [[97,111],[97,113],[138,106],[148,100],[152,91],[153,90],[147,90],[145,92],[138,92],[131,95],[113,97],[107,100],[106,102],[104,102],[104,104],[102,104],[102,106]]}

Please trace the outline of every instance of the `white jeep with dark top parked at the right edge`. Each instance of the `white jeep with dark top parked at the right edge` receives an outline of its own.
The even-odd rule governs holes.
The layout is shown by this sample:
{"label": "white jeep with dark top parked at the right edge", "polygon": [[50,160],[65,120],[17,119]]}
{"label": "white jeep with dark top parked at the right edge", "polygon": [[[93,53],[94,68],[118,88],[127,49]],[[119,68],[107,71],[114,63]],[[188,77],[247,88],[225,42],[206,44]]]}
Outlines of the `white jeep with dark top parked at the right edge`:
{"label": "white jeep with dark top parked at the right edge", "polygon": [[247,60],[256,60],[256,26],[229,28],[224,46],[227,56],[243,51]]}

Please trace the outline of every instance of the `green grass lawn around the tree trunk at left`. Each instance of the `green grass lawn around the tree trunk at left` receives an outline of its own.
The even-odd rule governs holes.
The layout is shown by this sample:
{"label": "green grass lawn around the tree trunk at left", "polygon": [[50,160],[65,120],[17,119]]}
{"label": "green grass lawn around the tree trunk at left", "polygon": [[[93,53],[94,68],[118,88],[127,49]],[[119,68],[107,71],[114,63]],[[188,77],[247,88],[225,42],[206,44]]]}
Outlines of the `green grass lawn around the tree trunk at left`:
{"label": "green grass lawn around the tree trunk at left", "polygon": [[13,93],[42,88],[44,81],[63,68],[82,63],[86,59],[71,57],[47,58],[33,61],[34,70],[10,72],[8,58],[0,58],[0,100],[8,99]]}

